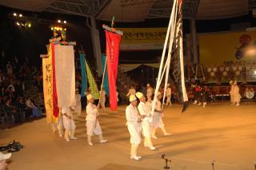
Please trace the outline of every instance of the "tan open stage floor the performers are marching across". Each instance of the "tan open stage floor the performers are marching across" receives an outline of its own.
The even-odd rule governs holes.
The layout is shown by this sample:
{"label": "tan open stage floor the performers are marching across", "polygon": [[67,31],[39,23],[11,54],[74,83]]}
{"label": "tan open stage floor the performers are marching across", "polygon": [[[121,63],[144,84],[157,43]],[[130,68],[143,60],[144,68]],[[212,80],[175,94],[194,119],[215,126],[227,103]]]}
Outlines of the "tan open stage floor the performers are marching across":
{"label": "tan open stage floor the performers are marching across", "polygon": [[154,170],[163,169],[169,158],[172,170],[254,170],[256,160],[256,103],[241,106],[228,102],[210,103],[206,108],[190,105],[181,113],[181,105],[165,107],[166,124],[171,136],[153,140],[155,151],[141,144],[142,160],[130,160],[130,138],[126,128],[125,106],[99,117],[106,144],[94,146],[86,142],[86,113],[76,121],[78,140],[66,142],[51,131],[46,119],[32,121],[14,128],[0,130],[0,144],[18,140],[24,144],[14,152],[10,170]]}

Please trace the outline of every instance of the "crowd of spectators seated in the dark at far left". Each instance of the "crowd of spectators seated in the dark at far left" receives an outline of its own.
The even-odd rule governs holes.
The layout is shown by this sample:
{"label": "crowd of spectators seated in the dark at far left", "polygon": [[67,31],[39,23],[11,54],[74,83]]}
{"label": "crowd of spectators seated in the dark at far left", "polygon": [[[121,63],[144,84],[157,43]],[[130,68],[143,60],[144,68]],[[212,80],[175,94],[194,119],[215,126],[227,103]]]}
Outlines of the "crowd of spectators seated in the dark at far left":
{"label": "crowd of spectators seated in the dark at far left", "polygon": [[42,112],[34,100],[26,97],[26,82],[34,80],[34,84],[42,89],[42,73],[37,67],[18,61],[6,64],[0,70],[0,121],[2,124],[17,124],[31,117],[42,117]]}

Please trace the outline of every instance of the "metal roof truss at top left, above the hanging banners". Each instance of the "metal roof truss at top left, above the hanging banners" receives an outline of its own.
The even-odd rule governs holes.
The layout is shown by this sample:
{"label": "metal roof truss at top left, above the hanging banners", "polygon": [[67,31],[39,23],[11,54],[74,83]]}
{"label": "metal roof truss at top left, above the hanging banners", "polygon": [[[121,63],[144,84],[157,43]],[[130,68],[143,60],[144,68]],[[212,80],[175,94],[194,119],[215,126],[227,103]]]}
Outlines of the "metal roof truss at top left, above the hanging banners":
{"label": "metal roof truss at top left, above the hanging banners", "polygon": [[108,2],[110,0],[55,0],[46,11],[96,18]]}

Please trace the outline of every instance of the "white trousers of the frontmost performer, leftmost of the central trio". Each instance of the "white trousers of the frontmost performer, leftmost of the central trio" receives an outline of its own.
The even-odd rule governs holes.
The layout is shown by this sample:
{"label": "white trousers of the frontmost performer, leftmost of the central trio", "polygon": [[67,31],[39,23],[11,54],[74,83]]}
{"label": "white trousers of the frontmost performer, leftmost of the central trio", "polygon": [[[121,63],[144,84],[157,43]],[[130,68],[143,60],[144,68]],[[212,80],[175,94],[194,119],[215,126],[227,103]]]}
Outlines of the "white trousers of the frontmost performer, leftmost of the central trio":
{"label": "white trousers of the frontmost performer, leftmost of the central trio", "polygon": [[127,128],[130,133],[130,144],[140,144],[141,143],[141,129],[139,125],[133,125],[127,123]]}

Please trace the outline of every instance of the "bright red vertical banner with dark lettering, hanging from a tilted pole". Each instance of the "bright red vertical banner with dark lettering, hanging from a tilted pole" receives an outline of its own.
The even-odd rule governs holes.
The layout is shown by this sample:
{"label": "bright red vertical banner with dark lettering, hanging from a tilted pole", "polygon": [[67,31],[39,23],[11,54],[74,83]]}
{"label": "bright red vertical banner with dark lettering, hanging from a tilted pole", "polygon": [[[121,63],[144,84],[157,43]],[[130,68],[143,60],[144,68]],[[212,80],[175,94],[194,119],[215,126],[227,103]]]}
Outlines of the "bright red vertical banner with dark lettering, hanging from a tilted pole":
{"label": "bright red vertical banner with dark lettering, hanging from a tilted pole", "polygon": [[116,81],[118,74],[118,54],[121,41],[121,35],[106,33],[106,57],[107,57],[107,75],[110,89],[110,109],[115,110],[118,107],[118,97],[116,93]]}

